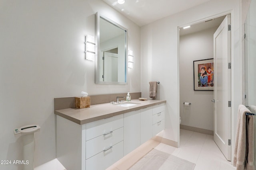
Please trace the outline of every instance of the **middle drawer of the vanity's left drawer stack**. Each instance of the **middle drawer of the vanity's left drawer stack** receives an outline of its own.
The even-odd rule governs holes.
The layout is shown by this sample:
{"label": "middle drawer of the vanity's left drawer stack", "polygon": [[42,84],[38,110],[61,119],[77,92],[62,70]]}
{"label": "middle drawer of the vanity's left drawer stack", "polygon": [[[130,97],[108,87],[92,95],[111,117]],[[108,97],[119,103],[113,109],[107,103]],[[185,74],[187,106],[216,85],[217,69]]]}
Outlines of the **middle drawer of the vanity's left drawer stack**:
{"label": "middle drawer of the vanity's left drawer stack", "polygon": [[86,141],[86,159],[102,152],[105,149],[123,141],[124,127],[110,131],[104,135]]}

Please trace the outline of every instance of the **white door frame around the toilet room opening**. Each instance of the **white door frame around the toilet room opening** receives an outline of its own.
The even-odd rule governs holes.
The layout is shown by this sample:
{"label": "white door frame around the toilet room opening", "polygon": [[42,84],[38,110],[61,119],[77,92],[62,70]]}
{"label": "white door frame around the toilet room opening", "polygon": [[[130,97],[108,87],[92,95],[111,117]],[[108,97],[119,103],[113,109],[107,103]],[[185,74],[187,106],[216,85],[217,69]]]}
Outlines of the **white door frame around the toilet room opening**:
{"label": "white door frame around the toilet room opening", "polygon": [[[230,24],[231,24],[231,42],[230,42],[230,55],[231,55],[231,102],[234,101],[234,86],[232,85],[232,80],[234,77],[234,67],[233,67],[233,60],[234,60],[234,31],[232,28],[233,25],[233,10],[229,10],[226,12],[222,12],[222,13],[218,13],[212,16],[208,16],[206,18],[202,18],[200,20],[194,20],[192,22],[186,23],[184,25],[180,25],[177,27],[177,40],[178,40],[178,48],[177,48],[177,57],[178,57],[178,116],[177,116],[177,129],[178,129],[178,147],[180,147],[180,28],[183,28],[185,26],[188,25],[194,25],[200,22],[204,22],[207,20],[211,20],[214,18],[218,18],[221,16],[225,16],[230,14]],[[213,120],[212,120],[213,121]],[[236,129],[234,129],[234,124],[236,124],[236,119],[234,118],[234,104],[231,105],[231,141],[232,143],[234,143],[235,141],[235,137],[234,137],[234,131],[236,131]],[[231,145],[231,162],[233,162],[233,157],[234,157],[234,145]]]}

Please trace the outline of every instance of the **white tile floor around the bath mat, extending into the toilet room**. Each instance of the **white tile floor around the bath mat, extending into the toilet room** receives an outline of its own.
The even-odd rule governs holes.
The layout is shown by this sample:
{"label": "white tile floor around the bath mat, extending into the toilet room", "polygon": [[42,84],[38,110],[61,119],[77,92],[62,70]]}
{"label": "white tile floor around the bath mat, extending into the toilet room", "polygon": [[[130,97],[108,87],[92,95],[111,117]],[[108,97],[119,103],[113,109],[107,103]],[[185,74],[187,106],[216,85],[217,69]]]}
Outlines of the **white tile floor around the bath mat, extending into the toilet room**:
{"label": "white tile floor around the bath mat, extending into the toilet room", "polygon": [[180,129],[180,147],[175,148],[163,143],[149,140],[121,160],[113,164],[108,170],[127,170],[152,148],[167,152],[179,158],[194,162],[194,170],[235,170],[227,161],[213,141],[212,135],[205,135]]}

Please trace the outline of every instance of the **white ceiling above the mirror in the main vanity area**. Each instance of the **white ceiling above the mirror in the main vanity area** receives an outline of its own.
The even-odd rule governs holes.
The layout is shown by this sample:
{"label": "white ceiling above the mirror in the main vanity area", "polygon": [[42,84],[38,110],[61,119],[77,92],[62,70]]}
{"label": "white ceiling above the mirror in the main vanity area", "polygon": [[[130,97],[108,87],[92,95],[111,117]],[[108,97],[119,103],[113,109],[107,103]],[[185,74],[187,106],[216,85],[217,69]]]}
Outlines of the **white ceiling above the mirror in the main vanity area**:
{"label": "white ceiling above the mirror in the main vanity area", "polygon": [[161,18],[198,6],[209,0],[102,0],[139,26],[146,25]]}

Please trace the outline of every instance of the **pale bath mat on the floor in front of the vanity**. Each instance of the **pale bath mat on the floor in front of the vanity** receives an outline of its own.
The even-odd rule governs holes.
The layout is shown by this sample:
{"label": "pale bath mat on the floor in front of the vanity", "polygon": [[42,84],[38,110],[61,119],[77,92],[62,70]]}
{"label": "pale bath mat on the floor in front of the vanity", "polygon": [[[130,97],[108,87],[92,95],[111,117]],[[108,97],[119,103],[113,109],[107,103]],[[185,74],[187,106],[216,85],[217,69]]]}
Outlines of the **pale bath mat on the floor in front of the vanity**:
{"label": "pale bath mat on the floor in front of the vanity", "polygon": [[194,170],[196,164],[177,156],[152,149],[129,170]]}

